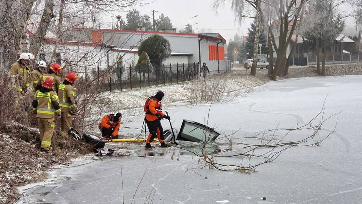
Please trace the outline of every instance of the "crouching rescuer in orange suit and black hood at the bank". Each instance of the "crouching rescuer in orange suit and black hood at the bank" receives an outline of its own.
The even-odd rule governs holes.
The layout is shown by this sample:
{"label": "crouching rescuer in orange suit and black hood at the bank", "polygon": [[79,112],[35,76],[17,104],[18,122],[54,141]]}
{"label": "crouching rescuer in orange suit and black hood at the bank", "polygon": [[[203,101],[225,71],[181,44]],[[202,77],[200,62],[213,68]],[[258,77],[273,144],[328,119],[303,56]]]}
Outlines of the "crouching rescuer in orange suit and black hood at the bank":
{"label": "crouching rescuer in orange suit and black hood at the bank", "polygon": [[102,137],[105,140],[118,139],[118,131],[121,126],[122,114],[117,113],[116,115],[105,115],[102,118],[98,128],[101,130]]}

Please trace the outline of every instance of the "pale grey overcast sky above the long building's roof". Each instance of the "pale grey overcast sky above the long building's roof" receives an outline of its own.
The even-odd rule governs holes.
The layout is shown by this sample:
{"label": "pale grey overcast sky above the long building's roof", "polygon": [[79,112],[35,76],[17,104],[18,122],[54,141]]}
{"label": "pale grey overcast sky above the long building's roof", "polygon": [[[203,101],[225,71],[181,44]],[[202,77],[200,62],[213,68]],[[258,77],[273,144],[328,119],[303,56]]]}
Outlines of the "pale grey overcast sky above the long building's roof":
{"label": "pale grey overcast sky above the long building's roof", "polygon": [[[152,2],[152,0],[144,0],[144,2]],[[236,33],[239,36],[247,35],[247,28],[249,28],[252,19],[246,19],[245,22],[239,25],[239,23],[235,23],[229,0],[226,0],[226,4],[218,10],[217,14],[212,8],[213,2],[213,0],[154,0],[153,3],[134,8],[140,14],[147,14],[150,17],[152,17],[152,12],[149,11],[158,11],[155,13],[155,18],[164,13],[165,16],[171,19],[173,27],[177,28],[177,30],[183,30],[185,25],[188,24],[188,19],[198,15],[190,19],[191,25],[198,23],[193,26],[194,30],[198,28],[197,33],[203,33],[205,29],[205,33],[220,33],[227,41],[233,38]],[[126,11],[113,12],[114,16],[119,14],[123,19],[125,19],[126,13]]]}

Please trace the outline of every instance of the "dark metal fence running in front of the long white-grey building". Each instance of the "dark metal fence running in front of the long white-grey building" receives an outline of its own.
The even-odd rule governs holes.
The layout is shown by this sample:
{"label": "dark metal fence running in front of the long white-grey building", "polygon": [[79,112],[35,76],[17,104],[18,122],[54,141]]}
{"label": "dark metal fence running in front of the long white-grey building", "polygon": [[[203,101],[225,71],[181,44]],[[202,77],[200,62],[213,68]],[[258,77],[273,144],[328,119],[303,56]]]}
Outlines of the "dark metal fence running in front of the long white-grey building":
{"label": "dark metal fence running in front of the long white-grey building", "polygon": [[135,89],[181,83],[200,77],[199,63],[162,64],[161,67],[85,67],[77,70],[79,80],[93,82],[105,90]]}

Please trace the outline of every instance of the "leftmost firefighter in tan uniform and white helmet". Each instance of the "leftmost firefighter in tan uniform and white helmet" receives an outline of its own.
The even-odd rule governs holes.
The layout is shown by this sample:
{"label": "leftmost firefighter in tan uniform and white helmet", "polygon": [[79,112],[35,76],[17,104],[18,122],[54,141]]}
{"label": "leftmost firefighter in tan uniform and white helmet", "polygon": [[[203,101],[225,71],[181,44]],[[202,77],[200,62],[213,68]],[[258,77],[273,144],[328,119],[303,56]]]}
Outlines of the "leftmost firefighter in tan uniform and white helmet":
{"label": "leftmost firefighter in tan uniform and white helmet", "polygon": [[30,71],[27,66],[29,62],[28,53],[21,53],[17,62],[10,66],[11,87],[24,93],[30,85]]}

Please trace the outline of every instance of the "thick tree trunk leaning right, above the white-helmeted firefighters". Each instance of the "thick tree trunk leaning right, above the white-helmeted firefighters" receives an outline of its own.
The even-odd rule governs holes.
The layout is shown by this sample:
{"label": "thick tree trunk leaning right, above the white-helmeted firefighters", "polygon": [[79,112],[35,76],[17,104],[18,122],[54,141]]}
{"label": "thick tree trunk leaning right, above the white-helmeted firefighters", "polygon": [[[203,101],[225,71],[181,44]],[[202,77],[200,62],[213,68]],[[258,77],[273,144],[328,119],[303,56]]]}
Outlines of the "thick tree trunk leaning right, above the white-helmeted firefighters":
{"label": "thick tree trunk leaning right, above the white-helmeted firefighters", "polygon": [[38,54],[40,45],[44,43],[44,36],[48,30],[53,14],[54,0],[46,0],[44,12],[40,20],[37,31],[34,33],[33,39],[30,41],[29,52],[34,56]]}

